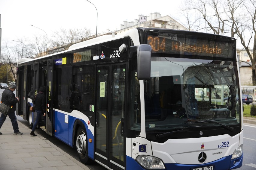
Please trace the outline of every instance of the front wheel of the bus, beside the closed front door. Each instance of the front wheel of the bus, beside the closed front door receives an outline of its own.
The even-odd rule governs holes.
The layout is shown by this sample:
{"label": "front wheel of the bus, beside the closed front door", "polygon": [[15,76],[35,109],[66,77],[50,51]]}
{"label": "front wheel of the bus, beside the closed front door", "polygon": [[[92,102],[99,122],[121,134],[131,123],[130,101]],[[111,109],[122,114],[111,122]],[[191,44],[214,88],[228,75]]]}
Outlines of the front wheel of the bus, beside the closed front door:
{"label": "front wheel of the bus, beside the closed front door", "polygon": [[76,152],[78,154],[79,160],[81,163],[84,164],[91,164],[93,163],[93,160],[91,160],[88,156],[88,139],[86,131],[80,126],[76,133],[76,139],[75,139],[75,147]]}

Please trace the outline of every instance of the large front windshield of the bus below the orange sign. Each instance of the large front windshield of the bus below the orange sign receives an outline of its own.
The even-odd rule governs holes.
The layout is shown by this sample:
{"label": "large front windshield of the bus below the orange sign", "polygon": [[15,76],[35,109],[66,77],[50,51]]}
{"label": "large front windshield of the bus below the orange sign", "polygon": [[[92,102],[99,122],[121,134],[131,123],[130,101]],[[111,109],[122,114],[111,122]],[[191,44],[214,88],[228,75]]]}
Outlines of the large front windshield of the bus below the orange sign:
{"label": "large front windshield of the bus below the orange sign", "polygon": [[[240,125],[238,88],[235,62],[152,57],[151,79],[144,81],[146,134],[191,127],[228,133],[225,125]],[[171,137],[184,137],[177,134]],[[185,138],[196,137],[188,134]]]}

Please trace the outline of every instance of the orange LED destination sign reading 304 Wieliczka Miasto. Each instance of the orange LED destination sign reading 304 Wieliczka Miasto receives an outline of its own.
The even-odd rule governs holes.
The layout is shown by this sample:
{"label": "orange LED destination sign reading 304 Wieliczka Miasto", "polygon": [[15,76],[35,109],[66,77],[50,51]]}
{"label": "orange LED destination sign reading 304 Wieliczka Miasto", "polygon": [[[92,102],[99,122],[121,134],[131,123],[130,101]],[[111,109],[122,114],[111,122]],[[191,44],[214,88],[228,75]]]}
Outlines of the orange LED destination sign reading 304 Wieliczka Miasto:
{"label": "orange LED destination sign reading 304 Wieliczka Miasto", "polygon": [[176,40],[173,40],[169,37],[150,35],[148,36],[147,40],[148,45],[152,47],[153,53],[188,54],[233,58],[233,43],[200,39],[201,37],[197,38],[198,39],[176,37]]}

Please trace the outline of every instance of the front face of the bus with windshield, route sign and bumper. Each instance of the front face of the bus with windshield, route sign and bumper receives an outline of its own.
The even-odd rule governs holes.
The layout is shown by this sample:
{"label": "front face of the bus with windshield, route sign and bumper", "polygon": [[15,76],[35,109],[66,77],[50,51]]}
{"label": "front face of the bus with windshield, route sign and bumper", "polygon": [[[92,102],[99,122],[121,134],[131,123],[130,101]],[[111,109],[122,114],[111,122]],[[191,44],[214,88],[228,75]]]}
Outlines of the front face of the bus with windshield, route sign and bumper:
{"label": "front face of the bus with windshield, route sign and bumper", "polygon": [[[148,50],[136,47],[135,79],[140,79],[140,92],[134,89],[138,107],[128,125],[130,147],[126,151],[131,152],[126,153],[127,167],[241,167],[243,130],[236,41],[193,32],[141,32],[149,46]],[[151,53],[139,54],[141,51]],[[145,66],[141,61],[150,64]]]}

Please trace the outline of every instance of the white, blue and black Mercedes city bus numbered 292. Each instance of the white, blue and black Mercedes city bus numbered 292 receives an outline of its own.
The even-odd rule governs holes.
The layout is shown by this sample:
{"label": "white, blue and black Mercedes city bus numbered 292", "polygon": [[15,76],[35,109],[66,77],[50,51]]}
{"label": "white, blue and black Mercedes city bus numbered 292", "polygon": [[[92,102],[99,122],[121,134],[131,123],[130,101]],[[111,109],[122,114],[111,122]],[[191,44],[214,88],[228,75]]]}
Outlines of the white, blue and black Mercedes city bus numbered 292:
{"label": "white, blue and black Mercedes city bus numbered 292", "polygon": [[243,158],[239,79],[232,37],[134,28],[20,59],[16,113],[32,128],[29,108],[44,85],[47,114],[38,127],[84,164],[236,169]]}

